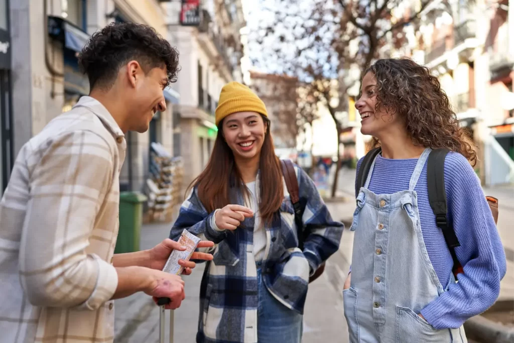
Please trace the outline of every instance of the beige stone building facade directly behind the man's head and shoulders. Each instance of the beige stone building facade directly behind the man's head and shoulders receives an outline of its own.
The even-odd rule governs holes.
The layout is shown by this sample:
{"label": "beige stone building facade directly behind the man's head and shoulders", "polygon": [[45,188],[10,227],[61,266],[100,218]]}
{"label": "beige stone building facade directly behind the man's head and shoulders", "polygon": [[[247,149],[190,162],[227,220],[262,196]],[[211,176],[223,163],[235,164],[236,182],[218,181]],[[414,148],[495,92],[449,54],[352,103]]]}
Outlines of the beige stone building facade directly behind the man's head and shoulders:
{"label": "beige stone building facade directly behind the man's head and shoulders", "polygon": [[[11,0],[9,13],[11,30],[16,32],[11,42],[16,75],[12,81],[14,154],[51,119],[89,93],[77,57],[90,34],[112,22],[130,21],[153,26],[167,37],[157,0]],[[164,95],[168,109],[156,114],[150,130],[126,134],[121,190],[142,190],[152,141],[161,142],[170,152],[173,149],[172,104],[178,102],[178,94],[167,89]]]}

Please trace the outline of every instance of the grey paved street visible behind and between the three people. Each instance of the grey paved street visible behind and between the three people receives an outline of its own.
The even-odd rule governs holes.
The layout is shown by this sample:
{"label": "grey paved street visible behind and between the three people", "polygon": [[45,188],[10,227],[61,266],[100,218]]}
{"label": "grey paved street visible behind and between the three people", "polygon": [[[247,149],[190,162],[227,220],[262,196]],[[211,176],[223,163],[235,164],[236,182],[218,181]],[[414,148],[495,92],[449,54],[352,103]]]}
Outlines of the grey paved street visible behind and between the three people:
{"label": "grey paved street visible behind and between the three people", "polygon": [[[339,251],[326,264],[325,273],[309,286],[304,314],[303,342],[348,342],[346,321],[343,314],[343,283],[352,258],[353,232],[348,230],[355,209],[355,171],[341,170],[339,189],[346,197],[344,202],[327,202],[332,216],[346,223]],[[486,189],[485,193],[498,197],[500,215],[498,229],[507,255],[507,275],[502,280],[500,300],[511,299],[514,294],[514,233],[509,221],[514,220],[514,191],[512,188]],[[146,249],[168,237],[171,224],[144,225],[141,230],[141,249]],[[194,342],[198,320],[199,284],[204,265],[199,264],[186,281],[186,299],[174,312],[175,342]],[[169,311],[167,311],[169,312]],[[169,313],[167,314],[169,316]],[[169,318],[169,317],[167,317]],[[167,319],[167,325],[169,320]],[[159,310],[145,294],[135,294],[116,300],[116,338],[118,343],[158,342]],[[166,328],[168,339],[169,328]]]}

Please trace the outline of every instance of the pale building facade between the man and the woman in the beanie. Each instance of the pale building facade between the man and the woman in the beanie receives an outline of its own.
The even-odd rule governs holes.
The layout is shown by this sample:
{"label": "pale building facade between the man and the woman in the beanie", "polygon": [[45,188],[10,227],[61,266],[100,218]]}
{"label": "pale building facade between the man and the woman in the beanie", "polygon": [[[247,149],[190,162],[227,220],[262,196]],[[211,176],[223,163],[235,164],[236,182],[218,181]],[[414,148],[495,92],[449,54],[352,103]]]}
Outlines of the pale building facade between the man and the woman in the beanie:
{"label": "pale building facade between the man and the woman in the beanie", "polygon": [[180,73],[172,88],[180,102],[174,117],[174,155],[183,157],[185,185],[206,166],[217,128],[214,112],[222,87],[242,81],[240,0],[162,3],[168,37],[180,52]]}

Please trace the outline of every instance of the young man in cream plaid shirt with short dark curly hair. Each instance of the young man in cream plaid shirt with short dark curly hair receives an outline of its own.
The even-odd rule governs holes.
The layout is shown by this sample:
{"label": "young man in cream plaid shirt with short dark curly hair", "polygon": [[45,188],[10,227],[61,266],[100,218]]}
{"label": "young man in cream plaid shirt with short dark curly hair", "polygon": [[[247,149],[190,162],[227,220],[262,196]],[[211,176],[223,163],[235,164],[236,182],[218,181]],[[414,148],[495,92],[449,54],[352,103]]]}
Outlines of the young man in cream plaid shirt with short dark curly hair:
{"label": "young man in cream plaid shirt with short dark curly hair", "polygon": [[[176,309],[185,297],[180,277],[161,271],[177,242],[113,255],[124,134],[166,110],[178,52],[148,26],[113,24],[93,34],[80,65],[90,95],[24,145],[0,203],[5,342],[109,342],[113,299],[145,292]],[[190,274],[194,263],[180,263]]]}

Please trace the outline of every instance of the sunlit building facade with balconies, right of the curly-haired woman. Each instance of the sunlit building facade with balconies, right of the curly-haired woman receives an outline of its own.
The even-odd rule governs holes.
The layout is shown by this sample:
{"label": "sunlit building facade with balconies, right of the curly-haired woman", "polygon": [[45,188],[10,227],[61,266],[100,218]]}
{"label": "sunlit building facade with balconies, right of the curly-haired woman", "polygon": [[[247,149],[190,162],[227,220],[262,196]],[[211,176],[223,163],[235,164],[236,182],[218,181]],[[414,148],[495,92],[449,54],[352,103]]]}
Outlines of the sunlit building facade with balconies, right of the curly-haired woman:
{"label": "sunlit building facade with balconies, right of the curly-haired woman", "polygon": [[424,11],[419,62],[438,75],[461,127],[473,138],[482,183],[514,183],[514,2],[454,0],[449,5],[434,2]]}

